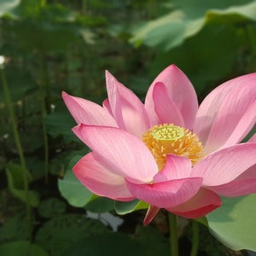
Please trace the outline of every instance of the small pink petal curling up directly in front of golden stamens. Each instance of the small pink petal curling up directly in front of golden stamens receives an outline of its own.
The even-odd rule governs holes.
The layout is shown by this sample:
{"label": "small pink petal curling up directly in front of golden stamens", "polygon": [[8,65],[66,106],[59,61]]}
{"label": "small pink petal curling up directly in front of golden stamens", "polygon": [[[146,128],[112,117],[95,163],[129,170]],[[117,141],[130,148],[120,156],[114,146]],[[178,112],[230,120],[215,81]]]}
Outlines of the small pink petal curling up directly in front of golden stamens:
{"label": "small pink petal curling up directly in front of golden stamens", "polygon": [[163,170],[154,176],[154,183],[165,182],[166,180],[190,177],[191,161],[183,156],[168,154],[166,165]]}

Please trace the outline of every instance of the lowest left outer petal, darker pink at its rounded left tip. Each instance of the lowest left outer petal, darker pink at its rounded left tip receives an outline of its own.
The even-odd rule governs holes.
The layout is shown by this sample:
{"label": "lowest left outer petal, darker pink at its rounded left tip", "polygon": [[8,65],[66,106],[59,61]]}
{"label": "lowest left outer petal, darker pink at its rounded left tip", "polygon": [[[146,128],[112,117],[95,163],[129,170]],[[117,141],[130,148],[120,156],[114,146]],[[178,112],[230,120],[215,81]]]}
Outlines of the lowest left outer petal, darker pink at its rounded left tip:
{"label": "lowest left outer petal, darker pink at its rounded left tip", "polygon": [[133,195],[125,185],[124,177],[110,172],[97,160],[96,154],[86,154],[73,167],[73,172],[79,181],[96,195],[106,196],[117,201],[134,200]]}

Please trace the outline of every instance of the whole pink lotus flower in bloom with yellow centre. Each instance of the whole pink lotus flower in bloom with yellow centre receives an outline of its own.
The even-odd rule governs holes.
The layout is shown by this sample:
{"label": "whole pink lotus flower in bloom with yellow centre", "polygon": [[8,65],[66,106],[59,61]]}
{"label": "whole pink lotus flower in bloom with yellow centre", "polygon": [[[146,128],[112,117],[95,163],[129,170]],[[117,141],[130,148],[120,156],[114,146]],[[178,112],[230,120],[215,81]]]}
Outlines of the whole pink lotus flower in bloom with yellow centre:
{"label": "whole pink lotus flower in bloom with yellow centre", "polygon": [[62,96],[92,152],[73,167],[84,186],[116,201],[147,202],[148,224],[160,208],[199,218],[219,195],[256,192],[256,73],[219,85],[198,108],[195,90],[175,65],[150,85],[145,104],[106,73],[103,107]]}

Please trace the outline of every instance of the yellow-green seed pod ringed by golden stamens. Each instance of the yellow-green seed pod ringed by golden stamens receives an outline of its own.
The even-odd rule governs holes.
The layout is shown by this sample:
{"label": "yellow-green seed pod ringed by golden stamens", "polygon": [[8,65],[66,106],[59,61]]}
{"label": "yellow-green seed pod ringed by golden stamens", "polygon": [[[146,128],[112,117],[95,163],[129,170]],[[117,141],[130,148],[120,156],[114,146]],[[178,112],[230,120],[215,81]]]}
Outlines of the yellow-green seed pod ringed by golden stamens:
{"label": "yellow-green seed pod ringed by golden stamens", "polygon": [[166,164],[167,154],[187,157],[192,165],[203,156],[203,146],[197,135],[173,124],[155,125],[143,134],[143,143],[153,154],[159,171]]}

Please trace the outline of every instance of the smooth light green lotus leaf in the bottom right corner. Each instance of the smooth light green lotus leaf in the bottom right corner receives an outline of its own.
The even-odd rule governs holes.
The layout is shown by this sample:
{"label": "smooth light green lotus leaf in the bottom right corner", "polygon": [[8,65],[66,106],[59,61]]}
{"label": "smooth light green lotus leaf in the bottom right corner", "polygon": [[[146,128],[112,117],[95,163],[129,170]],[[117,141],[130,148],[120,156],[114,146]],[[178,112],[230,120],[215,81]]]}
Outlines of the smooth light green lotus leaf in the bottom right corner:
{"label": "smooth light green lotus leaf in the bottom right corner", "polygon": [[256,195],[223,198],[223,205],[207,214],[212,235],[233,250],[256,251]]}

